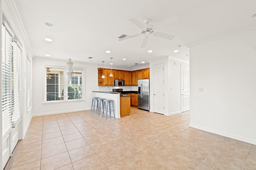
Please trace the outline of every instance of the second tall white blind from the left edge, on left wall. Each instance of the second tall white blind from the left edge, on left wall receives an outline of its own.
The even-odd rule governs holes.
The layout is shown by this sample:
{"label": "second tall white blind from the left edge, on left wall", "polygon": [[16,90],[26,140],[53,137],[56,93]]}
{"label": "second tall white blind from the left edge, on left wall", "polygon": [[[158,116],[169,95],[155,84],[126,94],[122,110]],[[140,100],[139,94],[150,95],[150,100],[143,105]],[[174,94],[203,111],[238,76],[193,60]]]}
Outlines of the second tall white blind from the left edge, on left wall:
{"label": "second tall white blind from the left edge, on left wall", "polygon": [[21,117],[20,59],[21,49],[12,42],[12,123],[15,125]]}

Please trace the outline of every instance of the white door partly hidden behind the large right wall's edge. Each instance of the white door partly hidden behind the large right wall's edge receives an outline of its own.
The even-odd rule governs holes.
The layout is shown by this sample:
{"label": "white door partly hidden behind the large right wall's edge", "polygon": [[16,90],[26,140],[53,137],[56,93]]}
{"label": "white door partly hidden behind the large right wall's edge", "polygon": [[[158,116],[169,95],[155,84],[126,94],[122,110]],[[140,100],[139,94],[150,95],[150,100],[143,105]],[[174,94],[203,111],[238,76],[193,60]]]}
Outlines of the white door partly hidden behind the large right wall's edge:
{"label": "white door partly hidden behind the large right wall's edge", "polygon": [[181,111],[190,109],[189,67],[181,65]]}

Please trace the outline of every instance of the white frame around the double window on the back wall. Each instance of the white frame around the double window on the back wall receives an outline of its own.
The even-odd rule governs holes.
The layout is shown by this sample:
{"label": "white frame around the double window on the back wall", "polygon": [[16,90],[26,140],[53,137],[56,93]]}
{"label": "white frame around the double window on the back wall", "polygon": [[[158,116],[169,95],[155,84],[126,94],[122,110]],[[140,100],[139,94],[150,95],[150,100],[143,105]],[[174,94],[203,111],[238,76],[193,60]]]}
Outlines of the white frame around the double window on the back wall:
{"label": "white frame around the double window on the back wall", "polygon": [[[47,79],[46,79],[46,68],[58,68],[58,69],[63,69],[63,89],[64,89],[64,98],[63,100],[50,100],[47,101]],[[63,66],[50,66],[50,65],[44,65],[43,66],[43,81],[44,81],[44,100],[43,104],[50,104],[50,103],[63,103],[63,102],[78,102],[78,101],[85,101],[85,68],[72,68],[72,70],[81,70],[82,72],[82,98],[81,99],[71,99],[68,100],[67,95],[68,95],[68,76],[67,72],[68,69],[67,67]]]}

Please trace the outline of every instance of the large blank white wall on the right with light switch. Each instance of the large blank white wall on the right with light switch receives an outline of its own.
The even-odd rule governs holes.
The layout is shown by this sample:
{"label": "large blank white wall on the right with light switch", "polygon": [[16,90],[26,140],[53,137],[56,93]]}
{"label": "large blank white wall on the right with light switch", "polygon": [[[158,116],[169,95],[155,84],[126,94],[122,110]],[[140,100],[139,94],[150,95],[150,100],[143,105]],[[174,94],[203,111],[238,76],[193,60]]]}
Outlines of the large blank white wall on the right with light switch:
{"label": "large blank white wall on the right with light switch", "polygon": [[255,47],[256,29],[190,47],[191,127],[256,144]]}

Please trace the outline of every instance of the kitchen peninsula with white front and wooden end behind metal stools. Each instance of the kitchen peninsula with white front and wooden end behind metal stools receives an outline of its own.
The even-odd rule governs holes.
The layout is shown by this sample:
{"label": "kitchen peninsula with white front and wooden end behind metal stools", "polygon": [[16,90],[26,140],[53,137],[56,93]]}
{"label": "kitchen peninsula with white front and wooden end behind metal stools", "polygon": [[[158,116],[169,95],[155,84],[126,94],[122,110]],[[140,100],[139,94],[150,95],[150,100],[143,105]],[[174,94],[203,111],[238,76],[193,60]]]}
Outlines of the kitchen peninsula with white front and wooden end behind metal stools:
{"label": "kitchen peninsula with white front and wooden end behind metal stools", "polygon": [[[120,92],[92,91],[92,96],[114,100],[115,117],[116,118],[120,118],[121,116],[124,116],[124,115],[129,115],[129,113],[130,113],[130,105],[128,106],[127,104],[122,103],[121,104],[122,109],[121,109],[121,114],[120,114],[120,101],[122,101],[122,102],[126,101],[127,102],[128,100],[130,100],[129,95],[122,95]],[[124,98],[124,100],[123,99],[120,100],[120,98]],[[125,100],[125,98],[126,98],[126,100]]]}

